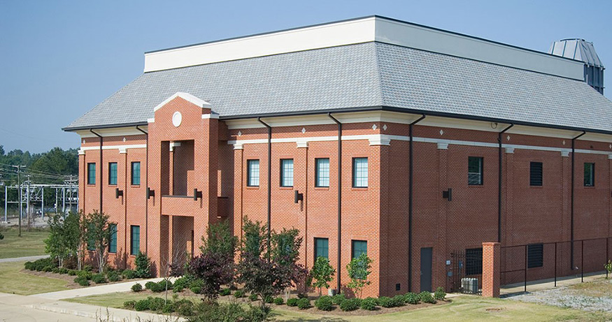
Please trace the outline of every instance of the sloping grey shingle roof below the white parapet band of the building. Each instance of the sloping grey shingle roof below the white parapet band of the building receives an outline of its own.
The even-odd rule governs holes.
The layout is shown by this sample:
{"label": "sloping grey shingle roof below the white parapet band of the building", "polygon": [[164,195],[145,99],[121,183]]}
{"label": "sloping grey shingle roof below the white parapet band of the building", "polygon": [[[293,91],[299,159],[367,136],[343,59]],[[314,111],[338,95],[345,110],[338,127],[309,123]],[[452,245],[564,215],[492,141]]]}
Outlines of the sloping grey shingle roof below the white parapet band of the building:
{"label": "sloping grey shingle roof below the white parapet band of the building", "polygon": [[176,92],[221,117],[388,106],[612,132],[585,82],[384,43],[144,73],[66,130],[146,122]]}

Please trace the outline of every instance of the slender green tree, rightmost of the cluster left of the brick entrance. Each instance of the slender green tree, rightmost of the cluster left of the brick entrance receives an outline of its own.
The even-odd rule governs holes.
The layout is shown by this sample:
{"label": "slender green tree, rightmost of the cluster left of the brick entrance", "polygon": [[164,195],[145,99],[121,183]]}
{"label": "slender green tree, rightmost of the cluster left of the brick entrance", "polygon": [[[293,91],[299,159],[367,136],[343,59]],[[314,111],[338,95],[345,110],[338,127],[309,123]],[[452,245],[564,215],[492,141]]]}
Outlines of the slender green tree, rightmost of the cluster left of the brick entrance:
{"label": "slender green tree, rightmost of the cluster left of the brick entrance", "polygon": [[111,242],[111,223],[108,221],[108,215],[104,212],[98,212],[94,210],[92,214],[87,215],[88,229],[87,229],[87,240],[93,244],[89,247],[94,249],[98,262],[98,272],[104,271],[106,265],[106,250],[108,249],[108,243]]}

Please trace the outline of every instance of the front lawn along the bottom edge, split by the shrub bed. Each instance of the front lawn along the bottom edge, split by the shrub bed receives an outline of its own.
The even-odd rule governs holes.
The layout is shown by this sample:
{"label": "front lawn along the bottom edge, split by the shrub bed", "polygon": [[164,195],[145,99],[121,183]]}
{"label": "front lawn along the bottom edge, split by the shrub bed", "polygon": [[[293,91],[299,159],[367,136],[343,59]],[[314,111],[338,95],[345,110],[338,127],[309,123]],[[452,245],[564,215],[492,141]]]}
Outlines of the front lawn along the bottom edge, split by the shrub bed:
{"label": "front lawn along the bottom edge, split by the shrub bed", "polygon": [[[142,293],[113,293],[69,299],[70,302],[100,305],[103,307],[123,306],[127,300],[141,300],[150,296]],[[169,296],[170,298],[170,296]],[[611,314],[584,312],[575,309],[563,309],[548,305],[497,298],[477,296],[459,296],[446,305],[438,305],[404,312],[380,314],[373,316],[337,316],[317,314],[316,309],[307,312],[292,311],[276,307],[273,309],[277,321],[610,321]]]}

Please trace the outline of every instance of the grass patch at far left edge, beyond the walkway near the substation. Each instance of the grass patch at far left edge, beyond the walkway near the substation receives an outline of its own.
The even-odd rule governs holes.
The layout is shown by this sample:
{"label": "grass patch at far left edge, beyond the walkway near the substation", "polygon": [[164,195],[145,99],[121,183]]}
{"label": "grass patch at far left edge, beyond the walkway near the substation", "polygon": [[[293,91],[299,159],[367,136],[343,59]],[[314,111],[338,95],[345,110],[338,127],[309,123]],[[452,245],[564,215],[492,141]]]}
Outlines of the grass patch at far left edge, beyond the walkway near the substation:
{"label": "grass patch at far left edge, beyond the walkway near the substation", "polygon": [[16,227],[0,228],[4,239],[0,240],[0,258],[36,256],[45,254],[45,238],[48,229],[32,229],[26,231],[22,227],[21,237]]}

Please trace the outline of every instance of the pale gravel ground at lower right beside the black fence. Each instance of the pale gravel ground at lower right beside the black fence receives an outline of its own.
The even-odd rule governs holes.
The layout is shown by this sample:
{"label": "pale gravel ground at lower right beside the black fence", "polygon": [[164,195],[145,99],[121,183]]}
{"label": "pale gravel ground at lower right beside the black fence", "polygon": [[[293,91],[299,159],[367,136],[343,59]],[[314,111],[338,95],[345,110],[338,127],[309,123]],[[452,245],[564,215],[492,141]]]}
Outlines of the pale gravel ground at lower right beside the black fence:
{"label": "pale gravel ground at lower right beside the black fence", "polygon": [[604,296],[589,296],[585,295],[583,291],[571,288],[571,286],[515,295],[509,297],[508,300],[534,302],[555,305],[557,307],[571,307],[572,309],[582,309],[584,311],[612,312],[612,293]]}

